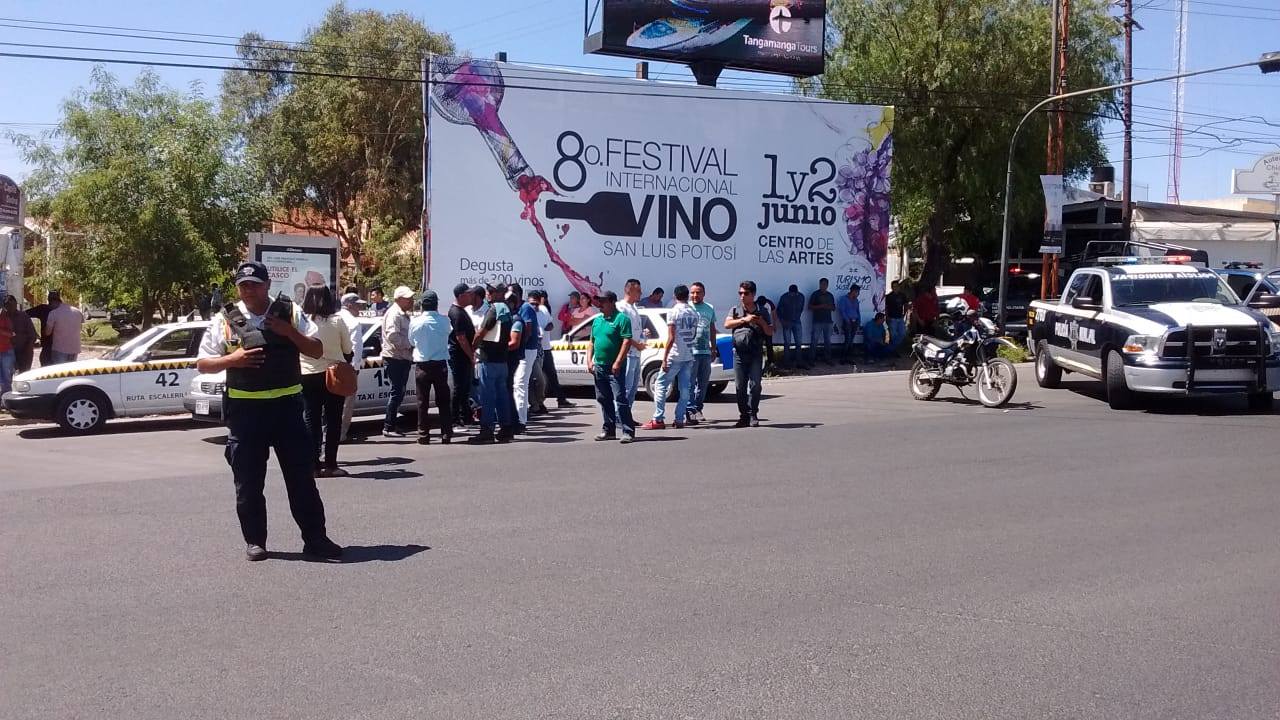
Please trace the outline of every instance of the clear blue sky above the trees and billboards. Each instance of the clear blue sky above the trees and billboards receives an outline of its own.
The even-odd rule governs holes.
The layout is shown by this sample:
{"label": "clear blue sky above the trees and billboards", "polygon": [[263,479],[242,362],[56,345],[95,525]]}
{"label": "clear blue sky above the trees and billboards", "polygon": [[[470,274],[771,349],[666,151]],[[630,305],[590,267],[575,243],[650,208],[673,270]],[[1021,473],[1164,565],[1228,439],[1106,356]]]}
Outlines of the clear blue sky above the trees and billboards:
{"label": "clear blue sky above the trees and billboards", "polygon": [[[87,26],[119,26],[157,31],[183,31],[239,36],[257,31],[273,40],[298,40],[306,27],[319,20],[324,0],[223,0],[219,3],[174,3],[172,0],[8,0],[0,17]],[[474,0],[454,3],[422,0],[406,3],[353,1],[352,8],[384,12],[404,10],[426,20],[433,29],[453,35],[457,45],[475,55],[504,50],[513,61],[552,63],[595,68],[613,74],[634,68],[632,60],[582,54],[582,0]],[[1175,64],[1176,0],[1135,0],[1135,17],[1144,29],[1134,42],[1135,77],[1166,74]],[[92,29],[92,28],[73,28]],[[108,31],[111,32],[111,31]],[[77,45],[84,47],[172,50],[229,55],[230,47],[164,44],[124,37],[44,32],[0,27],[0,42]],[[210,40],[210,38],[206,38]],[[1188,68],[1207,68],[1252,59],[1267,50],[1280,50],[1280,0],[1192,0]],[[0,51],[76,54],[37,47],[0,46]],[[79,53],[99,55],[99,53]],[[178,60],[187,61],[187,60]],[[189,60],[201,61],[201,60]],[[207,60],[212,64],[220,60]],[[86,85],[91,65],[51,60],[0,58],[0,129],[40,132],[59,117],[61,100]],[[113,65],[122,78],[137,69]],[[653,73],[687,78],[678,65],[655,64]],[[200,82],[216,95],[220,72],[161,68],[160,74],[175,86]],[[759,78],[767,78],[762,82]],[[726,73],[723,85],[768,87],[781,82],[774,76]],[[772,82],[769,82],[772,81]],[[1172,85],[1135,90],[1135,197],[1164,201],[1169,169],[1169,124]],[[1253,158],[1280,147],[1280,74],[1234,70],[1189,81],[1185,92],[1184,160],[1181,197],[1221,197],[1230,193],[1233,168],[1252,164]],[[1242,119],[1243,118],[1243,119]],[[1268,124],[1274,123],[1274,124]],[[1120,165],[1120,126],[1106,128],[1111,158]],[[0,138],[0,173],[26,174],[17,149]]]}

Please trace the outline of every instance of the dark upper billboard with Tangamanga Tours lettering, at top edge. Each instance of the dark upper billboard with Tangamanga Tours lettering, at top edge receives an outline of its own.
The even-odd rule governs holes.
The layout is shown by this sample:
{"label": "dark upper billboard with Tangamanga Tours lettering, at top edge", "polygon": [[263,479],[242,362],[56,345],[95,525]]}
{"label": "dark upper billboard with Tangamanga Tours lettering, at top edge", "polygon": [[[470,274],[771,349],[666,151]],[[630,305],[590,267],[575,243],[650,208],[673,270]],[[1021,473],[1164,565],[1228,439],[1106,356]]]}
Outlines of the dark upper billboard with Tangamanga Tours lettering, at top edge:
{"label": "dark upper billboard with Tangamanga Tours lettering, at top edge", "polygon": [[826,0],[600,0],[586,51],[710,63],[796,77],[822,74]]}

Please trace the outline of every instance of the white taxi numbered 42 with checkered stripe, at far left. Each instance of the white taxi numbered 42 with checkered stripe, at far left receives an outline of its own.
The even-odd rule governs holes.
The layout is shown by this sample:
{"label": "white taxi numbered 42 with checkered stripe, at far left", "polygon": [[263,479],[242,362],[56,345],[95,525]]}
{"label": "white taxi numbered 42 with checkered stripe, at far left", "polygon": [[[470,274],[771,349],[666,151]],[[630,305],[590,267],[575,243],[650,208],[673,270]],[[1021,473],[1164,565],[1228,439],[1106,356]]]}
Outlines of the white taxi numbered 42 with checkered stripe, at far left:
{"label": "white taxi numbered 42 with checkered stripe, at far left", "polygon": [[101,357],[28,370],[14,378],[4,407],[77,434],[110,418],[182,413],[207,328],[207,322],[155,325]]}

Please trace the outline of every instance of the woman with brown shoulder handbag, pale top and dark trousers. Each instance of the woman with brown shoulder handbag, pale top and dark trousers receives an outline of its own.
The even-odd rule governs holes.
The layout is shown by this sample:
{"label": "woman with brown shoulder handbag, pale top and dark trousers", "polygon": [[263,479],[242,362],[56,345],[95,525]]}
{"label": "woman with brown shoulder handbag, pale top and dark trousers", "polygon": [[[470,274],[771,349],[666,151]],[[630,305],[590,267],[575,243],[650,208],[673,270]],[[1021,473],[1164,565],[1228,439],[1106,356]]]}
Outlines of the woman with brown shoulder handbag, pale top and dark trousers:
{"label": "woman with brown shoulder handbag, pale top and dark trousers", "polygon": [[338,442],[342,438],[342,406],[347,396],[356,391],[356,373],[348,363],[353,352],[351,334],[338,315],[337,305],[326,284],[308,287],[302,300],[302,313],[311,320],[311,337],[324,345],[320,357],[302,356],[302,398],[317,478],[347,475],[338,468]]}

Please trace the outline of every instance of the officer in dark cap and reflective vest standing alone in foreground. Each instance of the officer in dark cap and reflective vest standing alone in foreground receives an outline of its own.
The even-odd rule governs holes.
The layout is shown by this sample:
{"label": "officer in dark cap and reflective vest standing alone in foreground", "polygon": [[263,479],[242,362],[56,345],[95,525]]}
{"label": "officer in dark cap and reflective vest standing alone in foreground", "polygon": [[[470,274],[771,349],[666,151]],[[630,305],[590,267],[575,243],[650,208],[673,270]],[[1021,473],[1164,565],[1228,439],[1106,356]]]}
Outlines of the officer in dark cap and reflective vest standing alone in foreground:
{"label": "officer in dark cap and reflective vest standing alone in foreground", "polygon": [[273,302],[271,278],[261,263],[236,269],[239,302],[214,315],[200,345],[196,369],[227,372],[223,415],[227,462],[236,478],[236,512],[248,560],[266,560],[266,461],[275,450],[289,493],[289,510],[302,530],[302,552],[342,557],[325,534],[324,503],[316,489],[311,436],[302,419],[300,354],[320,357],[324,347],[311,323],[288,299]]}

